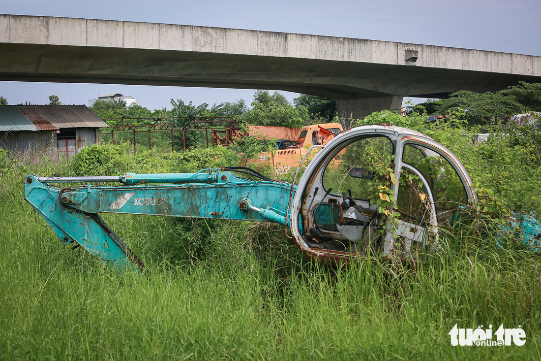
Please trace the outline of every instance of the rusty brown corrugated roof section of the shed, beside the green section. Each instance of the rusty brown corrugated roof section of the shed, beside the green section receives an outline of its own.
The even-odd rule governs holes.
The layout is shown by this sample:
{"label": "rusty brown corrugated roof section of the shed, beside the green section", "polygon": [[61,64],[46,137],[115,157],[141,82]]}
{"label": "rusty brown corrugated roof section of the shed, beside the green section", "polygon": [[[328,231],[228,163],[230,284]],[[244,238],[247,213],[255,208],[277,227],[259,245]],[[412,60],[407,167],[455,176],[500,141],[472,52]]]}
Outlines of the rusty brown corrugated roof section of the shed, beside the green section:
{"label": "rusty brown corrugated roof section of the shed, beside the green section", "polygon": [[85,105],[19,105],[21,111],[32,108],[54,128],[100,128],[108,125]]}

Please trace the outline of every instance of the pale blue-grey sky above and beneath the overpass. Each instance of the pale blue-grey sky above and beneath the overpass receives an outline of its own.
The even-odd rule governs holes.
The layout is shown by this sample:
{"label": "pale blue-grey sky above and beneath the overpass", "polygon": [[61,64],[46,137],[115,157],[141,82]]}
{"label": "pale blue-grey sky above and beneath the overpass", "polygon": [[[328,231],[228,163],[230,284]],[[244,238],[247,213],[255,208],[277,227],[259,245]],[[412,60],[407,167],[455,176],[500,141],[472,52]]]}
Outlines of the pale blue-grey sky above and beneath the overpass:
{"label": "pale blue-grey sky above and beneath the overpass", "polygon": [[[0,14],[203,25],[541,56],[539,0],[2,0]],[[249,104],[254,91],[0,81],[0,96],[9,104],[46,104],[55,94],[64,104],[88,105],[105,93],[131,95],[137,104],[159,109],[170,108],[171,98],[211,106],[242,98]],[[281,93],[290,101],[298,96]]]}

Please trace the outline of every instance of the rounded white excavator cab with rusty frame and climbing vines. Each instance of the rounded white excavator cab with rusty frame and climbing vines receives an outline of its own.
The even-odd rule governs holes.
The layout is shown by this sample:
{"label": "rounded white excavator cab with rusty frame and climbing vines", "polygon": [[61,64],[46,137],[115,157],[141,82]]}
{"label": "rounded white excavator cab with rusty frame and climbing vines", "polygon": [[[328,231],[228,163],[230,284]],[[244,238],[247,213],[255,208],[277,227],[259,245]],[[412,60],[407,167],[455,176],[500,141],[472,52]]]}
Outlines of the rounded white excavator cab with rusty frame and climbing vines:
{"label": "rounded white excavator cab with rusty frame and climbing vines", "polygon": [[405,128],[362,126],[329,141],[307,166],[291,228],[320,262],[415,258],[437,248],[438,229],[474,201],[470,177],[446,147]]}

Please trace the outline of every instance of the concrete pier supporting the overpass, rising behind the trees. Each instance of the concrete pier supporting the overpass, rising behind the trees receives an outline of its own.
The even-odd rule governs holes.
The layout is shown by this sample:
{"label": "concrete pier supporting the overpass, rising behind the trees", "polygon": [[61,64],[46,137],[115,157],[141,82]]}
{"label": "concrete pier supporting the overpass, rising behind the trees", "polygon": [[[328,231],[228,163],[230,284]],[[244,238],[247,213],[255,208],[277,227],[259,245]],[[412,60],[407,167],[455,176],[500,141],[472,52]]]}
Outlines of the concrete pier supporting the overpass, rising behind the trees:
{"label": "concrete pier supporting the overpass, rising behind the trees", "polygon": [[338,107],[338,117],[362,119],[373,112],[394,110],[402,107],[403,96],[387,95],[370,98],[335,99]]}

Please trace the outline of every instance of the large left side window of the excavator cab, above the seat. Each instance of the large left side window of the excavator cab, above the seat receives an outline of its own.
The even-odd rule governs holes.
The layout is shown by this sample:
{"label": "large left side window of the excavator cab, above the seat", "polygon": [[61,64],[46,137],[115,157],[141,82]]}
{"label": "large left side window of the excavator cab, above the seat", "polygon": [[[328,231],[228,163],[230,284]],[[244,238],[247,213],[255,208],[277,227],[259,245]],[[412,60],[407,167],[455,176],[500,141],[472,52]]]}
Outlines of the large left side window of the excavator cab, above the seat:
{"label": "large left side window of the excavator cab, above the seat", "polygon": [[323,174],[325,191],[368,201],[372,185],[381,183],[378,170],[393,168],[393,144],[387,137],[362,138],[346,145],[329,162]]}

